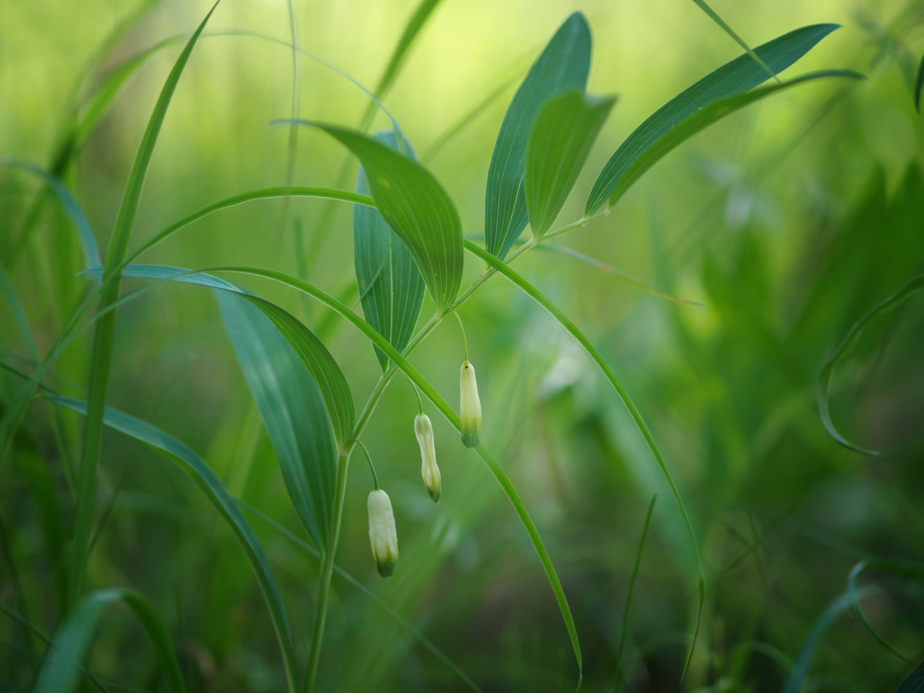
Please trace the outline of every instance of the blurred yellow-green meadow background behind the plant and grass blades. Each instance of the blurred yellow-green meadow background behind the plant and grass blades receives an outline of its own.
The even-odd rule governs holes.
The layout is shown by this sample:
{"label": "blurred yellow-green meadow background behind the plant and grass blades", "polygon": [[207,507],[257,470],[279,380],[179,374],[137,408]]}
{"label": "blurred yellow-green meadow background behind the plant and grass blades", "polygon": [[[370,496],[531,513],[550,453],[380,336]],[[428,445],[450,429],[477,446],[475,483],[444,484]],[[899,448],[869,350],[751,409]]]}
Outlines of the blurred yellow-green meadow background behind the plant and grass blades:
{"label": "blurred yellow-green meadow background behind the plant and grass blades", "polygon": [[[296,0],[294,6],[301,46],[372,88],[415,3]],[[924,51],[924,3],[716,0],[713,7],[751,45],[811,23],[843,24],[785,74],[853,68],[869,81],[808,84],[749,106],[669,155],[609,216],[556,238],[704,305],[650,296],[557,253],[536,251],[517,261],[517,271],[577,322],[626,385],[690,509],[708,590],[683,684],[696,621],[694,553],[625,408],[574,340],[502,277],[460,311],[479,373],[485,443],[517,486],[558,569],[589,691],[614,686],[626,591],[654,492],[628,619],[627,690],[780,690],[812,625],[845,590],[858,560],[924,560],[924,297],[875,322],[835,376],[835,423],[850,440],[886,454],[863,457],[835,444],[817,406],[818,373],[850,325],[921,271],[924,126],[912,92]],[[0,2],[0,152],[47,163],[79,71],[135,9],[115,0]],[[444,0],[385,105],[425,153],[458,117],[508,84],[428,164],[456,201],[467,232],[483,230],[485,177],[506,105],[575,9],[593,29],[589,90],[618,93],[619,101],[559,225],[580,217],[602,165],[638,123],[741,53],[687,0]],[[129,56],[194,29],[207,10],[201,2],[153,4],[84,90]],[[286,182],[288,130],[269,124],[289,116],[291,52],[254,36],[209,35],[223,30],[287,42],[286,3],[218,6],[164,122],[136,245],[211,201]],[[103,249],[178,51],[169,46],[140,69],[67,173]],[[349,126],[368,103],[355,85],[308,58],[299,92],[301,116]],[[388,125],[380,113],[372,129]],[[331,138],[303,129],[293,181],[333,186],[344,156]],[[348,188],[355,180],[351,165]],[[38,189],[38,179],[0,168],[0,253],[44,352],[88,283],[76,276],[83,259],[58,208],[47,208],[16,251]],[[336,207],[330,232],[319,237],[314,231],[325,209],[320,200],[290,201],[277,245],[284,203],[251,202],[190,226],[142,261],[273,267],[343,294],[355,283],[351,213],[348,205]],[[482,269],[469,256],[465,286]],[[360,407],[379,376],[371,346],[294,292],[244,283],[319,330]],[[140,285],[128,280],[127,286]],[[424,319],[431,312],[428,297]],[[5,360],[25,356],[6,303],[0,328]],[[53,382],[67,394],[83,393],[89,341],[85,335],[57,364]],[[454,322],[438,327],[411,359],[450,402],[458,396],[461,360]],[[14,376],[0,375],[5,403],[19,386]],[[119,311],[107,401],[187,443],[232,492],[304,536],[210,292],[162,286]],[[477,456],[425,405],[443,472],[440,505],[428,497],[413,435],[416,406],[407,379],[395,378],[363,436],[395,505],[401,546],[395,577],[378,577],[371,560],[365,508],[371,480],[359,457],[338,564],[485,691],[557,690],[562,652],[573,682],[577,664],[529,537]],[[79,461],[81,425],[76,415],[53,415],[37,402],[22,433],[29,445],[17,447],[15,464],[7,459],[0,468],[0,598],[27,609],[46,632],[60,617],[60,566],[50,558],[29,469],[38,464],[51,472],[62,507],[59,541],[67,546],[74,512],[67,470]],[[195,485],[172,463],[106,432],[99,505],[104,524],[91,586],[130,586],[152,600],[174,636],[188,687],[281,690],[260,590]],[[252,522],[303,658],[317,561],[260,519]],[[879,586],[863,602],[870,623],[917,663],[924,653],[920,582],[876,571],[860,581]],[[320,689],[463,689],[407,629],[336,577],[328,619]],[[0,687],[29,689],[37,665],[23,628],[0,618]],[[105,620],[88,666],[138,687],[166,689],[143,632],[124,610]],[[845,613],[821,638],[806,689],[891,691],[910,669]]]}

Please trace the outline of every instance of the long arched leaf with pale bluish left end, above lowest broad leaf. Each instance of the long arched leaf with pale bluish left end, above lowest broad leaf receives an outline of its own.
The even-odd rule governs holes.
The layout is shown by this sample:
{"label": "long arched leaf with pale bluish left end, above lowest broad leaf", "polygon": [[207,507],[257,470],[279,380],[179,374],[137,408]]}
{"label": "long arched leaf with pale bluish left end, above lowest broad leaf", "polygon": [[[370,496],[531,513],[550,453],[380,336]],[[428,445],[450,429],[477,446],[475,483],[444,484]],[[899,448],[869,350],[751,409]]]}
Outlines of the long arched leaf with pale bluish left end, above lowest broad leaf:
{"label": "long arched leaf with pale bluish left end, above lowest broad leaf", "polygon": [[123,276],[162,281],[172,280],[183,284],[207,286],[230,291],[247,298],[266,314],[266,317],[286,338],[286,342],[295,350],[298,358],[308,367],[327,407],[331,425],[334,428],[334,437],[339,446],[344,447],[346,442],[353,437],[353,424],[356,417],[353,409],[353,395],[350,394],[343,371],[340,371],[340,367],[337,366],[327,347],[304,324],[299,322],[298,318],[274,303],[249,294],[210,274],[155,264],[128,265],[123,269],[122,274]]}

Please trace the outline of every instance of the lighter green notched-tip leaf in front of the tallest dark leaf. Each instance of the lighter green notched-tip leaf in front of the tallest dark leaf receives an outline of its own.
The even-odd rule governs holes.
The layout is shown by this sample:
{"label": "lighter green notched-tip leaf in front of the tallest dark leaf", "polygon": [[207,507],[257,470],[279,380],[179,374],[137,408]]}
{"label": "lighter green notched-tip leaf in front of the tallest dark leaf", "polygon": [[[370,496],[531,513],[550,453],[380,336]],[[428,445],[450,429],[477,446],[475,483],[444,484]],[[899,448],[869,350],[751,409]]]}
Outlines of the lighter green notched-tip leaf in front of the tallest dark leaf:
{"label": "lighter green notched-tip leaf in front of the tallest dark leaf", "polygon": [[543,237],[562,211],[615,102],[614,96],[575,89],[553,96],[542,107],[529,135],[523,176],[534,238]]}

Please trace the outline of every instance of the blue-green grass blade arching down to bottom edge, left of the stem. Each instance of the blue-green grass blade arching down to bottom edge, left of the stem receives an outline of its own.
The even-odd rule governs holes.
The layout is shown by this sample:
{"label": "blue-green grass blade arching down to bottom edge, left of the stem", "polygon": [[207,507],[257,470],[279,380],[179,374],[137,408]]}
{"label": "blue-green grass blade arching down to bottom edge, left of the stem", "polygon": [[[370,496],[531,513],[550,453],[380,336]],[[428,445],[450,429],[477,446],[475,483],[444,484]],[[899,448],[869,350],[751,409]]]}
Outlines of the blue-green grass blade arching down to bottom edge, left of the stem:
{"label": "blue-green grass blade arching down to bottom edge, left of the stem", "polygon": [[[87,413],[87,403],[83,400],[61,395],[45,395],[45,397],[49,401],[55,402],[55,404],[68,407],[80,414],[85,415]],[[215,506],[215,509],[225,518],[240,547],[247,554],[250,567],[257,577],[257,582],[260,583],[263,598],[269,608],[270,618],[273,620],[276,638],[278,638],[279,647],[282,650],[283,664],[286,668],[286,684],[289,693],[296,693],[298,690],[298,665],[296,664],[295,649],[292,645],[292,636],[289,632],[282,595],[279,592],[273,568],[263,551],[260,540],[257,538],[253,528],[250,527],[247,518],[237,507],[234,496],[228,492],[212,468],[205,464],[205,461],[200,456],[196,455],[187,445],[180,443],[176,438],[152,426],[147,421],[136,419],[121,411],[106,407],[103,422],[106,426],[151,446],[175,462],[192,477]]]}

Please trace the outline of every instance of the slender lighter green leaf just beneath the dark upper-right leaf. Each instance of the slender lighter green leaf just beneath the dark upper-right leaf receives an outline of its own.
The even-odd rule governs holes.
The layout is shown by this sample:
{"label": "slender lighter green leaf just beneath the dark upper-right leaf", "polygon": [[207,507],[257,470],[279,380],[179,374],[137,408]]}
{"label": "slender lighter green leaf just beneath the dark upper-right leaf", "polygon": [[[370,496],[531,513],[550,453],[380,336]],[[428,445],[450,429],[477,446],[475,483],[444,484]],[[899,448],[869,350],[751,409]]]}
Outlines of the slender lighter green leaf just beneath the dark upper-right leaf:
{"label": "slender lighter green leaf just beneath the dark upper-right leaf", "polygon": [[[789,89],[808,81],[827,78],[866,79],[863,75],[852,70],[821,70],[819,72],[809,72],[807,75],[789,79],[780,84],[772,84],[768,87],[716,99],[699,107],[694,113],[676,122],[672,127],[665,128],[663,133],[657,136],[657,139],[648,140],[643,149],[633,152],[630,156],[626,155],[624,157],[626,158],[625,164],[619,168],[618,173],[613,173],[611,164],[618,166],[622,160],[621,158],[620,161],[614,164],[616,155],[623,149],[620,147],[614,154],[614,158],[610,159],[610,162],[606,164],[600,177],[597,178],[593,190],[590,191],[590,199],[584,211],[585,215],[590,215],[590,213],[599,210],[604,201],[607,202],[609,207],[612,207],[651,166],[657,164],[668,152],[673,151],[700,130],[708,128],[713,123],[722,120],[723,117],[729,116],[750,103],[759,101],[777,91]],[[631,135],[629,139],[632,139]],[[625,146],[625,142],[623,146]],[[609,194],[608,200],[603,196],[606,191]]]}

